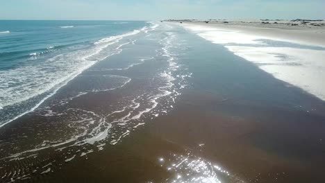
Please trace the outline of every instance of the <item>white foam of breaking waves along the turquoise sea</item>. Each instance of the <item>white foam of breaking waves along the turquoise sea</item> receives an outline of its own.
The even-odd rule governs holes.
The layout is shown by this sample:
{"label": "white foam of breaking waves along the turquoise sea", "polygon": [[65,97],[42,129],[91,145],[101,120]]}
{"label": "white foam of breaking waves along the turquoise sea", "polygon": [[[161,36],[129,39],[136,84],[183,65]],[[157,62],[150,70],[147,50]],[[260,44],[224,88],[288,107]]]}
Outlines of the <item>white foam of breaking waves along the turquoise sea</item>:
{"label": "white foam of breaking waves along the turquoise sea", "polygon": [[[1,121],[3,123],[0,124],[0,128],[11,121],[18,119],[20,116],[38,108],[45,100],[47,100],[47,98],[56,94],[60,87],[66,85],[69,80],[74,79],[97,61],[103,60],[110,55],[121,53],[121,47],[125,44],[118,46],[116,52],[113,52],[110,55],[101,55],[101,51],[106,49],[108,45],[115,44],[122,38],[135,35],[139,32],[140,30],[133,30],[131,33],[99,40],[99,42],[97,42],[98,45],[95,44],[92,49],[56,55],[55,57],[38,64],[36,67],[31,65],[0,71],[0,83],[3,84],[3,87],[0,88],[1,108],[15,105],[16,103],[22,103],[23,101],[27,101],[29,98],[33,98],[52,90],[50,94],[45,96],[34,107],[31,107],[31,109],[22,112],[13,119]],[[32,54],[35,55],[35,53]],[[70,62],[67,62],[67,60]],[[47,68],[56,68],[56,70]],[[17,84],[10,86],[12,83]],[[44,83],[46,83],[46,85],[44,85]]]}

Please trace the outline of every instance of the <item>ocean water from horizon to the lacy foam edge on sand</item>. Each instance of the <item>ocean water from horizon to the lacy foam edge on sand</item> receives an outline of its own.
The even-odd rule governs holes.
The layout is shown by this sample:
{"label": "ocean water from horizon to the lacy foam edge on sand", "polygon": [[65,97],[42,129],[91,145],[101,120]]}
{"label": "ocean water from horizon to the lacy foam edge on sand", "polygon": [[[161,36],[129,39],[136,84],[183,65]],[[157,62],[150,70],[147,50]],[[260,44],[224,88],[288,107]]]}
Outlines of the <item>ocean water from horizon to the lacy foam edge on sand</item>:
{"label": "ocean water from horizon to the lacy foam edge on sand", "polygon": [[5,182],[37,179],[117,145],[168,114],[190,87],[192,73],[178,60],[189,46],[178,26],[1,21],[0,30]]}

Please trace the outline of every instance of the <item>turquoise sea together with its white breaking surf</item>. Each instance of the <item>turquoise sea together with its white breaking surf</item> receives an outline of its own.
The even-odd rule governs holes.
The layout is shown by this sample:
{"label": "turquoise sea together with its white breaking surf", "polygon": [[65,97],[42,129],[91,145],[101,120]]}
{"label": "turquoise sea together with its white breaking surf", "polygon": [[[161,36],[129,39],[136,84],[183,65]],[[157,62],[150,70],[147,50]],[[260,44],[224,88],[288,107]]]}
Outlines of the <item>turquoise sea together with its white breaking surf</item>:
{"label": "turquoise sea together with its white breaking surf", "polygon": [[144,21],[0,21],[0,126],[34,110]]}

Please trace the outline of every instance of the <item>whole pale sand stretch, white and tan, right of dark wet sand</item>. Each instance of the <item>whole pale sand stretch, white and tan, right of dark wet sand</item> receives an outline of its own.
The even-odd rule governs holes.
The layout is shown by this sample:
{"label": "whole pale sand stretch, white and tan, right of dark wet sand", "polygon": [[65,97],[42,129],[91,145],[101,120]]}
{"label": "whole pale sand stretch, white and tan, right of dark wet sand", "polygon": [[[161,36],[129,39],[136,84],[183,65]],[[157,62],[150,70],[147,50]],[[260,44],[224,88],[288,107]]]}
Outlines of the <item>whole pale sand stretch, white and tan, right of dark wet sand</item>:
{"label": "whole pale sand stretch, white and tan, right of dark wet sand", "polygon": [[319,80],[325,77],[325,26],[308,30],[202,22],[181,26],[325,101],[325,86]]}

